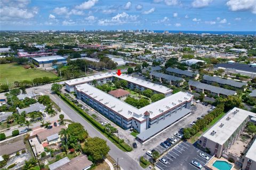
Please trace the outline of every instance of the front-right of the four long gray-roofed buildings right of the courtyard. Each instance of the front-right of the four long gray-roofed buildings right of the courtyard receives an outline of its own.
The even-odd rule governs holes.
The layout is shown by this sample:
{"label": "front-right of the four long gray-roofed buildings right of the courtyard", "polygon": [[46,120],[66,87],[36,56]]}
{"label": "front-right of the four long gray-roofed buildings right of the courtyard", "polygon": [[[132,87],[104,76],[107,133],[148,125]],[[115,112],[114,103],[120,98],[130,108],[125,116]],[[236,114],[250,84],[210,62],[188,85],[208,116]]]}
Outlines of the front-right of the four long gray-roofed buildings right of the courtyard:
{"label": "front-right of the four long gray-roofed buildings right of the courtyard", "polygon": [[194,90],[198,93],[210,93],[213,96],[229,96],[229,95],[236,95],[236,91],[227,90],[225,88],[212,86],[209,84],[204,84],[201,82],[195,82],[193,80],[189,80],[188,82],[189,90]]}

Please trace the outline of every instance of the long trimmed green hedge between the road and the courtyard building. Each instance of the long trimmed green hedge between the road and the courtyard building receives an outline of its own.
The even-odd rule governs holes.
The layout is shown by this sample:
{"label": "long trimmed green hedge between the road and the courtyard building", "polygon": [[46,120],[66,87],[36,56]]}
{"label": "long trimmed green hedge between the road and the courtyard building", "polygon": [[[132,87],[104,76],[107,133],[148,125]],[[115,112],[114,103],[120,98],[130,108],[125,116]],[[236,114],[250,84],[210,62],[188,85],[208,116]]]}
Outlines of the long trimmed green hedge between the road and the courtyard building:
{"label": "long trimmed green hedge between the road and the courtyard building", "polygon": [[73,107],[77,112],[79,112],[79,114],[85,117],[91,124],[97,127],[102,133],[105,133],[111,140],[118,143],[126,151],[128,152],[132,151],[132,148],[130,147],[130,145],[128,145],[125,142],[121,143],[121,139],[119,139],[119,142],[118,142],[118,137],[116,135],[110,134],[107,131],[105,131],[105,127],[103,127],[99,122],[95,121],[90,115],[86,114],[81,108],[77,107],[76,104],[69,101],[63,94],[59,92],[57,92],[57,94],[61,97],[61,99],[66,101],[71,107]]}

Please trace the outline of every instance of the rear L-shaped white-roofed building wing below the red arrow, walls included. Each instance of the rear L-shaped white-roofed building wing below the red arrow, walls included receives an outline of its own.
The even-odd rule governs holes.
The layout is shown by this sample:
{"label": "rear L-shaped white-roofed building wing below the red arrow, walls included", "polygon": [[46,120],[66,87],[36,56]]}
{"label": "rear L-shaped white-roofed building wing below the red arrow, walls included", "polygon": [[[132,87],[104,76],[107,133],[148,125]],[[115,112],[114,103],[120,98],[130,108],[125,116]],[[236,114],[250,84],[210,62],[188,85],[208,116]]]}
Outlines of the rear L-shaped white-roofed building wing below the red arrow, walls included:
{"label": "rear L-shaped white-roofed building wing below the red arrow, walls included", "polygon": [[144,91],[146,89],[151,89],[154,93],[162,93],[164,95],[172,94],[172,90],[162,85],[157,85],[146,80],[135,78],[129,75],[122,74],[120,76],[116,75],[116,72],[108,72],[106,74],[93,75],[89,77],[77,78],[68,80],[65,82],[66,90],[68,92],[74,91],[74,86],[81,85],[84,83],[92,84],[93,80],[97,80],[98,84],[106,84],[109,81],[117,78],[119,80],[126,80],[128,82],[128,88],[131,90],[137,89],[139,91]]}

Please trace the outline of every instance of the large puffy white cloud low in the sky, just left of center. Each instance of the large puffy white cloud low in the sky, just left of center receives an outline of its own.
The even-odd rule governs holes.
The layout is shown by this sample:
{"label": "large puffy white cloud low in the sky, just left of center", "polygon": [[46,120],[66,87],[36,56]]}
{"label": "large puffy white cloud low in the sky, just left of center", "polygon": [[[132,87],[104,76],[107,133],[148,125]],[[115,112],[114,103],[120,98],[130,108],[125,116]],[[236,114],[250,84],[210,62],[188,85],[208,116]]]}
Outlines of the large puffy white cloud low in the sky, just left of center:
{"label": "large puffy white cloud low in the sky, just left of center", "polygon": [[98,21],[98,25],[100,26],[114,26],[114,25],[123,25],[124,23],[136,22],[138,16],[137,15],[129,15],[126,12],[118,13],[115,17],[109,19],[101,19]]}

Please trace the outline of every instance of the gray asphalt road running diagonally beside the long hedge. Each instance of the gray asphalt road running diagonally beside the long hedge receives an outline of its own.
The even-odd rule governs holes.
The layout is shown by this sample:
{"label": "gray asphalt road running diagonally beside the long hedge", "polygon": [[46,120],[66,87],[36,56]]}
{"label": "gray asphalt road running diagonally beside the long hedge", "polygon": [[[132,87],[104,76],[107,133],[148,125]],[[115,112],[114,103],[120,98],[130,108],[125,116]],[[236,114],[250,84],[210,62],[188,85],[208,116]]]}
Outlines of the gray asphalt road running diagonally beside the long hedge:
{"label": "gray asphalt road running diagonally beside the long hedge", "polygon": [[[65,102],[63,102],[59,98],[58,95],[51,94],[50,90],[49,90],[50,89],[49,87],[51,87],[51,86],[49,86],[49,85],[47,85],[47,86],[38,86],[38,87],[36,87],[36,92],[40,92],[40,93],[44,93],[44,94],[49,95],[50,98],[55,103],[58,104],[58,106],[61,108],[61,110],[63,110],[67,114],[68,117],[70,117],[74,122],[81,123],[84,126],[84,128],[87,130],[87,132],[89,133],[89,135],[91,137],[98,136],[101,139],[106,140],[108,146],[110,147],[109,155],[112,158],[114,158],[115,160],[117,160],[117,158],[119,158],[118,164],[123,169],[125,169],[125,170],[126,169],[127,170],[142,169],[141,166],[137,163],[137,161],[132,159],[129,155],[127,155],[127,153],[118,149],[115,144],[113,144],[112,142],[110,142],[107,139],[107,137],[102,135],[97,129],[95,129],[91,124],[89,124],[82,116],[77,114],[76,111],[71,109]],[[29,88],[29,89],[27,89],[27,92],[32,91],[32,90],[33,90],[33,88]]]}

